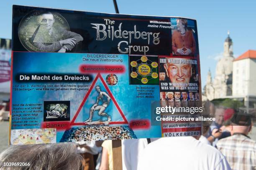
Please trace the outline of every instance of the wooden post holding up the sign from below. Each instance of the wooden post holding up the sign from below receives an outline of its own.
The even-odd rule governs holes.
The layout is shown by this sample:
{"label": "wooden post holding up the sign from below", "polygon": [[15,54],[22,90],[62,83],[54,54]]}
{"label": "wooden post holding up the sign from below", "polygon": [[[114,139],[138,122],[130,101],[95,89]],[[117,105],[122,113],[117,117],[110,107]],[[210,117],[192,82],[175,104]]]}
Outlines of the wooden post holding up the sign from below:
{"label": "wooden post holding up the sign from below", "polygon": [[122,170],[122,144],[121,140],[112,140],[113,170]]}

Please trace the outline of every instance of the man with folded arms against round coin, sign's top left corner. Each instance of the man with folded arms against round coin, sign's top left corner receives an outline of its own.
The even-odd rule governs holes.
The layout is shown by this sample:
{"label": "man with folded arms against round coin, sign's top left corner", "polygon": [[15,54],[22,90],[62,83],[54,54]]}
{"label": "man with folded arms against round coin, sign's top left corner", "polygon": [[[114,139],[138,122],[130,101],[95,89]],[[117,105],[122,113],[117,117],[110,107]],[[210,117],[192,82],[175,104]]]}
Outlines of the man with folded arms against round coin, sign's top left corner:
{"label": "man with folded arms against round coin, sign's top left corner", "polygon": [[59,13],[38,11],[19,26],[19,37],[28,51],[70,52],[83,37],[69,30],[67,20]]}

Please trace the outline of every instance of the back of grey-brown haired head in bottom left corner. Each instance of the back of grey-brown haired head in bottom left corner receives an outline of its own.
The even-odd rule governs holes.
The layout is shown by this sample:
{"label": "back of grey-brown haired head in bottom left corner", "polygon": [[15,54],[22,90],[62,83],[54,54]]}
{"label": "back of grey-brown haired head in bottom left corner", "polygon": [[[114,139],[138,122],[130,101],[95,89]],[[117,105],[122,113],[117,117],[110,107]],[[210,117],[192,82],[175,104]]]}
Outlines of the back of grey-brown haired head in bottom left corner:
{"label": "back of grey-brown haired head in bottom left corner", "polygon": [[74,143],[13,145],[0,154],[0,169],[4,162],[29,162],[29,167],[12,166],[12,170],[80,170],[82,156]]}

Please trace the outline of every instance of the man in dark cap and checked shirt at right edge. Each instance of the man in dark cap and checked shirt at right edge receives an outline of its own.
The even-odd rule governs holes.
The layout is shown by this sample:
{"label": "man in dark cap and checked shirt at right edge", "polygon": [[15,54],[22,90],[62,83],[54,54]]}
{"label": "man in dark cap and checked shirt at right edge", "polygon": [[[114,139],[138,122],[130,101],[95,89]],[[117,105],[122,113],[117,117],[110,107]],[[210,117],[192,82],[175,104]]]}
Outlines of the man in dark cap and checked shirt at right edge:
{"label": "man in dark cap and checked shirt at right edge", "polygon": [[251,127],[251,117],[243,111],[237,111],[231,118],[232,136],[217,143],[217,148],[225,155],[233,170],[256,169],[256,141],[248,137]]}

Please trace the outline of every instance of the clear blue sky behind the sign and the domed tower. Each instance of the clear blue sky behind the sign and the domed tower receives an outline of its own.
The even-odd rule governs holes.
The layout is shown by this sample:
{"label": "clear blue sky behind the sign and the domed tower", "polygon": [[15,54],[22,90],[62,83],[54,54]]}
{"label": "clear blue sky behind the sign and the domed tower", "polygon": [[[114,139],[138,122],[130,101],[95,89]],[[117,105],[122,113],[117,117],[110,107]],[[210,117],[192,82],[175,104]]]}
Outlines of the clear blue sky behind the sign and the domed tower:
{"label": "clear blue sky behind the sign and the domed tower", "polygon": [[[197,20],[202,87],[207,71],[215,74],[217,58],[230,30],[235,57],[248,49],[256,50],[255,0],[117,0],[123,14],[181,16]],[[12,5],[63,8],[115,13],[113,0],[2,0],[0,38],[11,38]]]}

